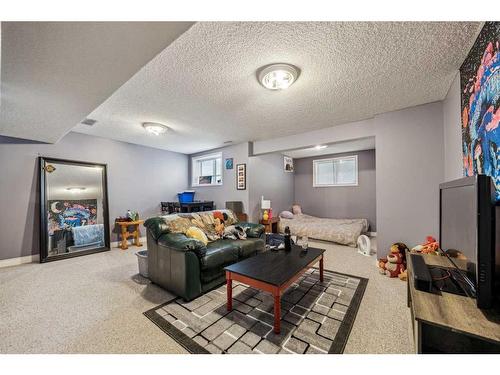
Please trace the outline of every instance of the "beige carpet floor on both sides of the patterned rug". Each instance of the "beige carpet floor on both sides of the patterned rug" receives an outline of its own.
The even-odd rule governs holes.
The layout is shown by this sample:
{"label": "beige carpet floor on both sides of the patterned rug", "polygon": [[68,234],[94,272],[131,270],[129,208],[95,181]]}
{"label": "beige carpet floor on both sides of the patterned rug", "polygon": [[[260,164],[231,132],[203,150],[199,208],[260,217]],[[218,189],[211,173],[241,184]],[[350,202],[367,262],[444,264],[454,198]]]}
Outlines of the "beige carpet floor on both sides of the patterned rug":
{"label": "beige carpet floor on both sides of the patterned rug", "polygon": [[[325,267],[369,278],[346,353],[410,353],[406,286],[331,243]],[[137,248],[0,269],[0,353],[185,353],[142,313],[171,298],[137,274]]]}

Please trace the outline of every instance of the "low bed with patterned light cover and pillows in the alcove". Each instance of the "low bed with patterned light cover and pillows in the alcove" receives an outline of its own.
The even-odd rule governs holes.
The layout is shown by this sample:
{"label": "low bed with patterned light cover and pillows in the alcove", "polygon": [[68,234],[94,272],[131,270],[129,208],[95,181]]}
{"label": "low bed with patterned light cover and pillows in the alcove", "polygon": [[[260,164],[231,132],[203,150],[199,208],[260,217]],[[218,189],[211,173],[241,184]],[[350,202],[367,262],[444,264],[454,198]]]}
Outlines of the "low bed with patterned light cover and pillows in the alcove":
{"label": "low bed with patterned light cover and pillows in the alcove", "polygon": [[368,231],[367,219],[329,219],[310,216],[303,214],[299,205],[294,205],[292,210],[293,212],[280,213],[278,224],[280,233],[284,232],[285,227],[289,227],[292,235],[356,247],[358,237]]}

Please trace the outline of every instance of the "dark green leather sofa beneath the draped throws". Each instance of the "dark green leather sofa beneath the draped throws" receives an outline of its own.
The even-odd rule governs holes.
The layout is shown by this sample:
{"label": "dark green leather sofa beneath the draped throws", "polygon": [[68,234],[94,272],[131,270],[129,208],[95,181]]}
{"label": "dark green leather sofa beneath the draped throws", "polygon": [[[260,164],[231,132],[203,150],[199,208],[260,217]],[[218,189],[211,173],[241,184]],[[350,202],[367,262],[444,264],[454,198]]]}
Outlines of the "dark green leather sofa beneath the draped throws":
{"label": "dark green leather sofa beneath the draped throws", "polygon": [[186,301],[224,283],[224,267],[265,249],[263,225],[236,225],[245,230],[246,240],[223,239],[205,246],[182,233],[170,233],[161,217],[146,220],[149,279]]}

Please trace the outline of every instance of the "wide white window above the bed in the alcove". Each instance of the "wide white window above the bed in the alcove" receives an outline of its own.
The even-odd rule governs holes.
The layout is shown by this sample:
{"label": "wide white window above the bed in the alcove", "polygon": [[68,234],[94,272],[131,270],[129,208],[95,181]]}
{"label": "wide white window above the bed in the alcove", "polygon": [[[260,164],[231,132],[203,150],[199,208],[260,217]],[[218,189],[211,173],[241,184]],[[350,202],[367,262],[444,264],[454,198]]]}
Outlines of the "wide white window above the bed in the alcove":
{"label": "wide white window above the bed in the alcove", "polygon": [[313,160],[313,187],[357,185],[358,155]]}

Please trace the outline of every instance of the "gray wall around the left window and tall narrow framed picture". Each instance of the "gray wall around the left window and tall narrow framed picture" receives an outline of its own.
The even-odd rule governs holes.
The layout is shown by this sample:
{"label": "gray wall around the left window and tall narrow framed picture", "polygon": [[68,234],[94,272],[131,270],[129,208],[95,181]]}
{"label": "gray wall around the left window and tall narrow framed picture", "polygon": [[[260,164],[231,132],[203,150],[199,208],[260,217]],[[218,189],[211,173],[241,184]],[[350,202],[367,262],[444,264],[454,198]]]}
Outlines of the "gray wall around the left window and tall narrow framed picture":
{"label": "gray wall around the left window and tall narrow framed picture", "polygon": [[[202,186],[191,187],[196,191],[195,199],[213,200],[217,208],[222,209],[226,206],[226,201],[242,201],[243,209],[248,212],[249,208],[249,184],[248,184],[248,142],[239,143],[232,146],[218,148],[215,150],[199,152],[190,155],[189,158],[189,184],[191,185],[191,157],[214,152],[222,152],[222,185],[219,186]],[[224,161],[227,158],[233,158],[233,169],[226,169]],[[247,164],[247,189],[236,189],[236,164]]]}

